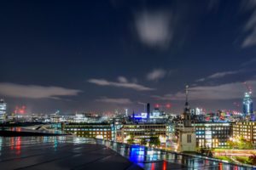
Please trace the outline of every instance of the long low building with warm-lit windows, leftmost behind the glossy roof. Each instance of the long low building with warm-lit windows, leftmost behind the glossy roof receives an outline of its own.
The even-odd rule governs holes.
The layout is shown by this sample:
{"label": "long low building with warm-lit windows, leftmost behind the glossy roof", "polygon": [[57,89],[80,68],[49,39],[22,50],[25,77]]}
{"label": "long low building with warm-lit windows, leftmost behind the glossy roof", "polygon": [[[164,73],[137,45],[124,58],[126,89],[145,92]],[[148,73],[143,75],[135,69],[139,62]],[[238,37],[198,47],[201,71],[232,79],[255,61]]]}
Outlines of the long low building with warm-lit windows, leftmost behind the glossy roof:
{"label": "long low building with warm-lit windows, leftmost behind the glossy roof", "polygon": [[76,134],[78,137],[114,140],[113,124],[107,123],[69,123],[63,124],[66,133]]}

